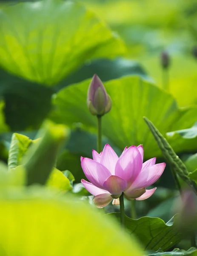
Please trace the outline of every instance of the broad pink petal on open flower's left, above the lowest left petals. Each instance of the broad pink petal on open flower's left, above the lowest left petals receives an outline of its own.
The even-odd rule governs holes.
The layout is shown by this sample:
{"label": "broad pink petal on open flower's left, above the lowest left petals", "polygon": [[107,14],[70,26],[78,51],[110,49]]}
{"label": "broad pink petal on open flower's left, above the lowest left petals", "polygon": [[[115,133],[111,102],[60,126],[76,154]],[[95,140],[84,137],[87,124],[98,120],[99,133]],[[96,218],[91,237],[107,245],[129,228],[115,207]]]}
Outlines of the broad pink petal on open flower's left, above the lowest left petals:
{"label": "broad pink petal on open flower's left, above the lowest left petals", "polygon": [[83,169],[86,178],[94,185],[100,189],[104,189],[104,181],[111,176],[109,170],[100,163],[90,159],[83,158],[81,160],[81,167]]}

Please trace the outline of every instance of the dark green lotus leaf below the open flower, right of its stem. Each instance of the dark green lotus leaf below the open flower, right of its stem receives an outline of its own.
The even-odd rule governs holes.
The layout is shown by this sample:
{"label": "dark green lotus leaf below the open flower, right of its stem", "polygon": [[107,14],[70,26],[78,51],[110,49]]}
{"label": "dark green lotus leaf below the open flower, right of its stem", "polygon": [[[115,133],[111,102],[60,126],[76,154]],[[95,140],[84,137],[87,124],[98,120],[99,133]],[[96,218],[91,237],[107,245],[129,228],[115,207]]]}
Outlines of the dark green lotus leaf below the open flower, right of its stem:
{"label": "dark green lotus leaf below the open flower, right of its stem", "polygon": [[[108,215],[120,218],[120,213],[109,213]],[[128,233],[135,235],[143,244],[144,250],[168,250],[181,240],[181,234],[177,229],[174,215],[170,221],[165,223],[160,218],[142,217],[134,220],[125,216],[125,225]]]}

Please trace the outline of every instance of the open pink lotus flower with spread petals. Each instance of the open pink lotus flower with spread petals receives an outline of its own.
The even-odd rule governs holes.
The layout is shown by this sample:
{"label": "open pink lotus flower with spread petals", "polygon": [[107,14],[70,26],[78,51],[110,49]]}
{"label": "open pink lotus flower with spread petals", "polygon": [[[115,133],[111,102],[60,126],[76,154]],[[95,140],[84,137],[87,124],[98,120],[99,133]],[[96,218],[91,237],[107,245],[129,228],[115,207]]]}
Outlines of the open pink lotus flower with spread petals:
{"label": "open pink lotus flower with spread petals", "polygon": [[143,146],[125,148],[120,157],[110,145],[106,144],[103,152],[92,151],[93,160],[81,157],[81,166],[86,180],[83,186],[94,195],[94,204],[98,208],[105,207],[122,192],[128,200],[144,200],[155,191],[146,189],[162,175],[166,163],[155,164],[156,157],[143,163]]}

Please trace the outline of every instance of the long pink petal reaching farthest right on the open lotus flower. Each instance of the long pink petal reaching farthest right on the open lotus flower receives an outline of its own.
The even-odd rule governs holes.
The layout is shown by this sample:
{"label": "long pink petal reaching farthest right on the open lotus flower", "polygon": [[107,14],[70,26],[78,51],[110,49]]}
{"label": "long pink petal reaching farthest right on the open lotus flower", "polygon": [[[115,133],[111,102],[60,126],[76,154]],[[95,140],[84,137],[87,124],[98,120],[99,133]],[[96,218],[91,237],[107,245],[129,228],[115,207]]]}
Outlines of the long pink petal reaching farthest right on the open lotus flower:
{"label": "long pink petal reaching farthest right on the open lotus flower", "polygon": [[137,176],[134,183],[131,185],[131,189],[140,189],[151,186],[160,178],[165,167],[166,163],[157,163],[153,166],[143,169]]}

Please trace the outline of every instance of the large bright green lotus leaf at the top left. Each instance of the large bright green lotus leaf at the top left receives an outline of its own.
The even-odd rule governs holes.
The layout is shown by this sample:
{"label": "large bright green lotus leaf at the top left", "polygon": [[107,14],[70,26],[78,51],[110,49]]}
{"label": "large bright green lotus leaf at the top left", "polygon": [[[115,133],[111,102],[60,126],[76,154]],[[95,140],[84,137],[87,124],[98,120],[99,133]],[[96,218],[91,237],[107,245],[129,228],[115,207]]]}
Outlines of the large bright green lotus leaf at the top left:
{"label": "large bright green lotus leaf at the top left", "polygon": [[53,85],[85,60],[114,57],[123,42],[80,3],[42,0],[0,12],[0,65],[11,73]]}

